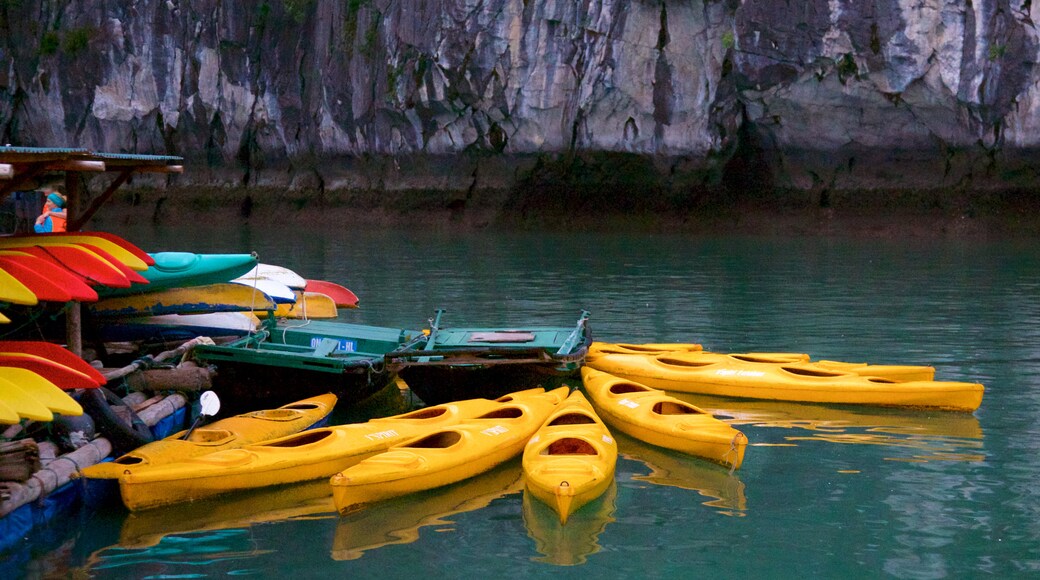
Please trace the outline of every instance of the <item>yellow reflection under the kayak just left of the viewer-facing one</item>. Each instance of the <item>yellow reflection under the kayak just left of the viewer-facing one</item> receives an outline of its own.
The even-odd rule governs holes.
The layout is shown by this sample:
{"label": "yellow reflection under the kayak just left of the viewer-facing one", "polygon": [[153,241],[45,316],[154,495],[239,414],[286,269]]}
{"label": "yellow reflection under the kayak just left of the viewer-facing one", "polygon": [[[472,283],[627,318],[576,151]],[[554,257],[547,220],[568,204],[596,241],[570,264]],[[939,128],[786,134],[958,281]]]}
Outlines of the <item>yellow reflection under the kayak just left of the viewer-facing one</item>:
{"label": "yellow reflection under the kayak just left of the viewer-facing one", "polygon": [[523,485],[519,459],[492,471],[446,485],[370,505],[339,520],[332,557],[354,560],[365,552],[419,539],[426,526],[450,526],[446,518],[473,511],[519,492]]}

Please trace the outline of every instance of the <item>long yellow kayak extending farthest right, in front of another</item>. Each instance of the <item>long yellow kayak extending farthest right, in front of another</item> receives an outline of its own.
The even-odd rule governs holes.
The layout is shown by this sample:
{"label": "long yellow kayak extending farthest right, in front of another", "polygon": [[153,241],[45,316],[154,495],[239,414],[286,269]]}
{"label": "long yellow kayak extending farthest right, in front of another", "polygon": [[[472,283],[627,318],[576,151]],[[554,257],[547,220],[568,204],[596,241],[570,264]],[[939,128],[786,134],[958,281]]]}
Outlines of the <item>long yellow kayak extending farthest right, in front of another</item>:
{"label": "long yellow kayak extending farthest right, in front of another", "polygon": [[899,380],[875,372],[889,365],[835,368],[735,354],[608,354],[590,366],[666,391],[831,404],[971,412],[984,390],[976,383]]}

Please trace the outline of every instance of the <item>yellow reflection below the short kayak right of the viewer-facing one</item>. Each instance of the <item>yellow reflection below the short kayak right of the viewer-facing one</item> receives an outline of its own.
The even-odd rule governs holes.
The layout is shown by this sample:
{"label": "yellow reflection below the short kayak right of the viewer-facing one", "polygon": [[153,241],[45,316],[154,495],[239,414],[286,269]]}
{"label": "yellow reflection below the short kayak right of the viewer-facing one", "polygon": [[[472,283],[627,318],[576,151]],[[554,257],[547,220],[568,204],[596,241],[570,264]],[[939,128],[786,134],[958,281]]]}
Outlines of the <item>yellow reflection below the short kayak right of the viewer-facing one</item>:
{"label": "yellow reflection below the short kayak right of the viewer-facing one", "polygon": [[636,481],[691,490],[707,498],[703,505],[716,508],[724,516],[743,517],[748,510],[744,482],[736,472],[681,453],[673,453],[644,443],[625,433],[614,433],[618,453],[647,467],[650,473],[632,474]]}

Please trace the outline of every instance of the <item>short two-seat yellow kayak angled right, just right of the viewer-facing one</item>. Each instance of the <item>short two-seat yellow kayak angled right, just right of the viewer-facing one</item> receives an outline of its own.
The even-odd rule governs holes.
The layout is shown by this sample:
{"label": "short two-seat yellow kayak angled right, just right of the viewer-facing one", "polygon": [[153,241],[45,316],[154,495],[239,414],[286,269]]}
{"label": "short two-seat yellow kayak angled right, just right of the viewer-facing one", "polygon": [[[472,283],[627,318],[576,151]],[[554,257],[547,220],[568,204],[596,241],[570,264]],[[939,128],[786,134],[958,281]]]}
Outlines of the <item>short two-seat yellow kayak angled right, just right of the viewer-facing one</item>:
{"label": "short two-seat yellow kayak angled right, just right of the viewer-facing one", "polygon": [[724,421],[661,391],[589,367],[581,379],[606,424],[635,439],[737,469],[748,438]]}

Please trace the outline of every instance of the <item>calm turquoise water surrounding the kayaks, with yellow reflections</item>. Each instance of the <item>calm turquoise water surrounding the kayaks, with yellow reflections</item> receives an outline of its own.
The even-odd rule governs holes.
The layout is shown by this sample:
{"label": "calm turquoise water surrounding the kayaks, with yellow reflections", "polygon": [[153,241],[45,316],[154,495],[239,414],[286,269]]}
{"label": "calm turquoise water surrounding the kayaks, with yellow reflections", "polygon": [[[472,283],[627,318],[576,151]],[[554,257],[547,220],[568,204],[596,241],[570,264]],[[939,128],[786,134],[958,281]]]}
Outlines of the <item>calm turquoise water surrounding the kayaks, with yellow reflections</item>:
{"label": "calm turquoise water surrounding the kayaks, with yellow reflections", "polygon": [[[626,234],[112,230],[149,251],[257,252],[341,283],[341,318],[570,325],[597,340],[930,364],[971,414],[687,397],[751,444],[730,474],[619,438],[615,486],[566,527],[516,462],[350,518],[323,485],[34,532],[26,575],[184,578],[1040,573],[1040,243]],[[27,554],[27,555],[26,555]]]}

